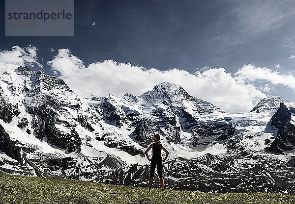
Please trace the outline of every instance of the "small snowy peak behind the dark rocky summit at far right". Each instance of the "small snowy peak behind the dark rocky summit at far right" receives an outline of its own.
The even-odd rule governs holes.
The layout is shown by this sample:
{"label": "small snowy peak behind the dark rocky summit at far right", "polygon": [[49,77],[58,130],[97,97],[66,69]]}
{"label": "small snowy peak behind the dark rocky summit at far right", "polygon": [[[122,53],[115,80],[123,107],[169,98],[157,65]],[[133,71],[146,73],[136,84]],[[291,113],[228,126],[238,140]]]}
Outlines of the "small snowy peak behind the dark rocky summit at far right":
{"label": "small snowy peak behind the dark rocky summit at far right", "polygon": [[280,107],[280,103],[284,100],[279,96],[270,96],[262,99],[250,112],[266,112],[276,110]]}

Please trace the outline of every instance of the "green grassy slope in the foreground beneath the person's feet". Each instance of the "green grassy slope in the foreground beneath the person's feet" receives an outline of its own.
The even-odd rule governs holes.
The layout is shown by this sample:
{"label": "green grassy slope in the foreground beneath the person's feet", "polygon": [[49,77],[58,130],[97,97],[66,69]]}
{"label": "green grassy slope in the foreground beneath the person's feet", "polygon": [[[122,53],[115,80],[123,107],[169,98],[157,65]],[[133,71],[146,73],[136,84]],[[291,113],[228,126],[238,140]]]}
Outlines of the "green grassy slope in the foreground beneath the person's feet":
{"label": "green grassy slope in the foreground beneath the person's feet", "polygon": [[279,193],[203,193],[0,173],[0,204],[295,204]]}

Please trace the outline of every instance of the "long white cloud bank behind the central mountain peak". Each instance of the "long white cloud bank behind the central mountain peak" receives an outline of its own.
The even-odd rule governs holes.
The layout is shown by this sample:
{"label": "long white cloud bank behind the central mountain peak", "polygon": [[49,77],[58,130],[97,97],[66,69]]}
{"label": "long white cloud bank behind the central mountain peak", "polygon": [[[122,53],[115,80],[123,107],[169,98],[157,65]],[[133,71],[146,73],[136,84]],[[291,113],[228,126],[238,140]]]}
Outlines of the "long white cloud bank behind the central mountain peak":
{"label": "long white cloud bank behind the central mountain peak", "polygon": [[81,97],[111,93],[141,95],[163,81],[182,86],[190,95],[221,107],[227,112],[246,112],[266,95],[252,84],[236,80],[224,68],[190,74],[181,69],[160,71],[113,60],[85,66],[67,49],[60,49],[48,64]]}

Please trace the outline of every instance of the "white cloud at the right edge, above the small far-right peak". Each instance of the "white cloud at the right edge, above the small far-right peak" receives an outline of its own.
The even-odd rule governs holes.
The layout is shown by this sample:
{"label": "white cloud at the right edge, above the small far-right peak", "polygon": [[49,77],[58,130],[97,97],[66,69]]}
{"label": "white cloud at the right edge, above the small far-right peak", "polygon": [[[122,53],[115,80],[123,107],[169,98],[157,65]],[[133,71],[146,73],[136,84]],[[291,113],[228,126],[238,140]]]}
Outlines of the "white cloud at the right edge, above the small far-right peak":
{"label": "white cloud at the right edge, above the small far-right peak", "polygon": [[283,84],[295,91],[295,77],[291,73],[289,75],[280,75],[279,72],[266,67],[244,65],[235,73],[235,76],[238,81],[267,80],[271,84]]}

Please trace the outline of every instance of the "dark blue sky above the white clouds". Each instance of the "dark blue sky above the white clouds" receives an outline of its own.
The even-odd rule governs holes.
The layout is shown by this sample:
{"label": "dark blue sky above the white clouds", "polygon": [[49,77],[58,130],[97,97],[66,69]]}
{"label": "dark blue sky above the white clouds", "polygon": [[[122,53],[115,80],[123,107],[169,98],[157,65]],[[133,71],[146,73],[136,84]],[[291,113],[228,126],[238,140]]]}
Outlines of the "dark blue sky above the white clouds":
{"label": "dark blue sky above the white clouds", "polygon": [[[68,48],[86,66],[113,59],[160,70],[209,66],[234,73],[243,64],[280,64],[287,73],[295,65],[294,8],[294,1],[75,0],[74,37],[5,37],[2,26],[0,49],[31,44],[45,70],[59,48]],[[4,1],[1,11],[4,25]]]}

